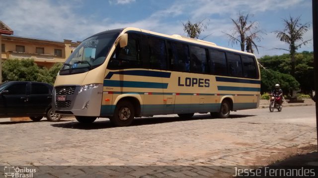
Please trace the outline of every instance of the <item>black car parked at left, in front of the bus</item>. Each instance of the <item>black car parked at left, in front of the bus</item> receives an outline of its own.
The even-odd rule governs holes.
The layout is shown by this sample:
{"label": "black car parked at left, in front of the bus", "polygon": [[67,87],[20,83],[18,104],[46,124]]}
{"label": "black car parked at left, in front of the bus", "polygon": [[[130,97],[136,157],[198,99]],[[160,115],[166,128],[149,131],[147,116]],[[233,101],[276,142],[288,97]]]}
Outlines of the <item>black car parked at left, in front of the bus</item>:
{"label": "black car parked at left, in front of the bus", "polygon": [[8,81],[0,84],[0,118],[30,117],[59,121],[52,112],[53,86],[42,82]]}

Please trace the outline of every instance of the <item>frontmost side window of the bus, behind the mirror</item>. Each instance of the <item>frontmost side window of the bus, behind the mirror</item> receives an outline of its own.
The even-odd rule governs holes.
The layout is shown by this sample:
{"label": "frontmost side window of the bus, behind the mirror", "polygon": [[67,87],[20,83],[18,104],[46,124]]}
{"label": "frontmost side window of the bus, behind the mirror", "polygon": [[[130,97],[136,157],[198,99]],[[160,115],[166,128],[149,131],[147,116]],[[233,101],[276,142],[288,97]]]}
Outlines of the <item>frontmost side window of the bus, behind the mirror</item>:
{"label": "frontmost side window of the bus, behind the mirror", "polygon": [[140,68],[143,62],[140,59],[140,42],[137,34],[128,34],[128,44],[124,48],[117,45],[116,50],[109,61],[108,68]]}

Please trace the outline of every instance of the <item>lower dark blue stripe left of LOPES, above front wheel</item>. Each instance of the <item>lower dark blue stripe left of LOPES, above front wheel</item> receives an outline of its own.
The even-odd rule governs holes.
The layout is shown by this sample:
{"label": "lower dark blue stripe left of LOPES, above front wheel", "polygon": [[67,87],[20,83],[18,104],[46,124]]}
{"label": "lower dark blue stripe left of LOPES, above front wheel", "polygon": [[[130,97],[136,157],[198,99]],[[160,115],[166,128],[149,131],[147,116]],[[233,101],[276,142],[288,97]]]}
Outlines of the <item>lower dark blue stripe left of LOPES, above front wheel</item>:
{"label": "lower dark blue stripe left of LOPES, above front wheel", "polygon": [[137,81],[122,81],[122,80],[104,80],[106,87],[127,87],[127,88],[161,88],[167,89],[167,83],[156,82],[137,82]]}

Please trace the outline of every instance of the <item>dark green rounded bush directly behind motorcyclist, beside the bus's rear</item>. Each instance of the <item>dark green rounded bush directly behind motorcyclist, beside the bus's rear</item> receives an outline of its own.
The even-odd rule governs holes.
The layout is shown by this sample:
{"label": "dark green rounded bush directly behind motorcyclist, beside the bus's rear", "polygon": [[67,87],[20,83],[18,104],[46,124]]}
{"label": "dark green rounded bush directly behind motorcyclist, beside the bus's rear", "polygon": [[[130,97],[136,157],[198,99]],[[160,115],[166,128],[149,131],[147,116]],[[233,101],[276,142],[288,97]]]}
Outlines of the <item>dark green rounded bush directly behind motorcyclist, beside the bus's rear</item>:
{"label": "dark green rounded bush directly behind motorcyclist, beside the bus's rear", "polygon": [[269,92],[274,89],[276,83],[280,84],[284,93],[289,93],[290,89],[298,89],[299,82],[290,74],[284,74],[273,70],[261,68],[261,93]]}

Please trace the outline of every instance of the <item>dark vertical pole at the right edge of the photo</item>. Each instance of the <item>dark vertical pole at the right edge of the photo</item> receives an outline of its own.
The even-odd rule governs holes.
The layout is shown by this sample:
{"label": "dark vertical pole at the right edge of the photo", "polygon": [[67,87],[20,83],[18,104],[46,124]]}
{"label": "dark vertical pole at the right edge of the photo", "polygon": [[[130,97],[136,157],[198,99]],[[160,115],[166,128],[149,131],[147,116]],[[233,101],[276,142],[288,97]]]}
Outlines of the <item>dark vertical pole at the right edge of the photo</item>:
{"label": "dark vertical pole at the right edge of the photo", "polygon": [[[318,92],[318,0],[313,0],[313,39],[314,39],[314,76],[315,76],[315,95]],[[316,96],[316,129],[318,138],[318,100]],[[318,139],[317,139],[318,145]],[[318,147],[317,147],[318,149]]]}

